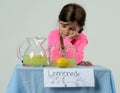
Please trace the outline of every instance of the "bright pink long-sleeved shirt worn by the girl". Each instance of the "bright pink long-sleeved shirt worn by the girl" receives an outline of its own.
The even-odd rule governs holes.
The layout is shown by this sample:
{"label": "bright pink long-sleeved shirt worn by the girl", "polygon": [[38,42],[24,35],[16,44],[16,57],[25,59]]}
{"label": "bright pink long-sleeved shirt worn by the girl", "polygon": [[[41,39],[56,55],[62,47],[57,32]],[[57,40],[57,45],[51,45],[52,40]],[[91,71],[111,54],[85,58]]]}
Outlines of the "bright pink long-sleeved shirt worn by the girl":
{"label": "bright pink long-sleeved shirt worn by the girl", "polygon": [[[87,37],[83,33],[80,33],[80,35],[74,40],[70,38],[65,38],[63,41],[65,46],[74,45],[76,47],[76,64],[79,64],[84,58],[84,48],[88,44]],[[56,46],[60,45],[60,35],[59,35],[58,29],[52,30],[49,33],[48,48],[50,48],[51,45],[56,45]],[[57,54],[57,51],[54,51],[54,53]],[[72,53],[69,53],[69,54],[72,54]]]}

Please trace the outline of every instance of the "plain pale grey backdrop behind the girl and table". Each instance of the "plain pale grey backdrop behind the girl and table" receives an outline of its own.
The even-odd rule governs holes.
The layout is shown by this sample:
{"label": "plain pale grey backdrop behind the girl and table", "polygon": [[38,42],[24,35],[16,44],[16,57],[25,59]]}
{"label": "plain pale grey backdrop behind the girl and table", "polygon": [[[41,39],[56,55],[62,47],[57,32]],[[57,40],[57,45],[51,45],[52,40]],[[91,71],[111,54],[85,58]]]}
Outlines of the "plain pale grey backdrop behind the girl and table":
{"label": "plain pale grey backdrop behind the girl and table", "polygon": [[120,93],[120,0],[0,0],[0,93],[5,93],[15,65],[20,64],[17,45],[26,37],[47,37],[69,2],[81,4],[87,12],[85,59],[109,68]]}

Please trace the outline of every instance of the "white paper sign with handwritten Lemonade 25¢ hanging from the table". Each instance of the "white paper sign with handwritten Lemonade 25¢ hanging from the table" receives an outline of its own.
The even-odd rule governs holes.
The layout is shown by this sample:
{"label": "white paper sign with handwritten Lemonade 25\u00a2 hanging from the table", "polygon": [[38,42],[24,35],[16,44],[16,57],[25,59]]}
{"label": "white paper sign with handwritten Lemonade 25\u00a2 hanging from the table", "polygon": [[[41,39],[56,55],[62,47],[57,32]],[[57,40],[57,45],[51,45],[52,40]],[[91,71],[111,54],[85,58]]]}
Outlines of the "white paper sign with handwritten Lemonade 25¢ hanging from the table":
{"label": "white paper sign with handwritten Lemonade 25\u00a2 hanging from the table", "polygon": [[94,87],[93,68],[45,68],[44,87]]}

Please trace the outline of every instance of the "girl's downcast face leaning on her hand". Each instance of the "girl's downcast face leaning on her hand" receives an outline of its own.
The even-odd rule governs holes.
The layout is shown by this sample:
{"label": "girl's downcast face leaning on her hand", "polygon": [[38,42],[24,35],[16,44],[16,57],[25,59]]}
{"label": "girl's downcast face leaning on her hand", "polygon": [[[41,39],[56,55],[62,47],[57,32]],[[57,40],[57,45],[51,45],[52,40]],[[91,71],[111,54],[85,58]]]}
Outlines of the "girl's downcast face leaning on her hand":
{"label": "girl's downcast face leaning on her hand", "polygon": [[82,27],[80,27],[77,22],[63,22],[59,21],[59,30],[60,30],[60,35],[65,38],[65,37],[70,37],[70,38],[75,38],[76,36],[79,35],[79,31]]}

